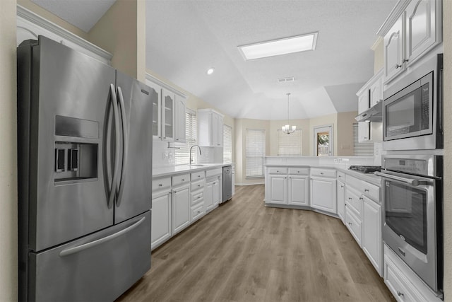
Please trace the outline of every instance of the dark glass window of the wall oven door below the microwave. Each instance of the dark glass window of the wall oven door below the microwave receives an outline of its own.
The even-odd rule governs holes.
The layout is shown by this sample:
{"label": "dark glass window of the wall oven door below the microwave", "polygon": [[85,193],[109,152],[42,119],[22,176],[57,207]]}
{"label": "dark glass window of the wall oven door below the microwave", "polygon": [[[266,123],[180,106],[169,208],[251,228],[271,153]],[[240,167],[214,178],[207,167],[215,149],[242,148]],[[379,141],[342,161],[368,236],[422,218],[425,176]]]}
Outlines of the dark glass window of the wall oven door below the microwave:
{"label": "dark glass window of the wall oven door below the microwave", "polygon": [[385,222],[400,238],[427,255],[428,190],[384,181]]}

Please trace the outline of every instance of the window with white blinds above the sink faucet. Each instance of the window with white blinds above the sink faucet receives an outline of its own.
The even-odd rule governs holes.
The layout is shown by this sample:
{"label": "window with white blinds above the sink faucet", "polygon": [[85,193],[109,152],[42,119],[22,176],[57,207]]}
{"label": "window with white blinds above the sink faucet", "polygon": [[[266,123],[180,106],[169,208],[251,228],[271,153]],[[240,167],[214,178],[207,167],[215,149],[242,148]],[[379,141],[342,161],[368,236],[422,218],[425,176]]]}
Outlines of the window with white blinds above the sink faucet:
{"label": "window with white blinds above the sink faucet", "polygon": [[[185,143],[174,143],[174,146],[179,149],[174,149],[174,163],[176,165],[186,165],[190,163],[190,147],[196,144],[196,112],[193,110],[186,110],[185,112]],[[198,151],[198,150],[194,150]],[[192,156],[196,161],[196,155],[193,152]]]}

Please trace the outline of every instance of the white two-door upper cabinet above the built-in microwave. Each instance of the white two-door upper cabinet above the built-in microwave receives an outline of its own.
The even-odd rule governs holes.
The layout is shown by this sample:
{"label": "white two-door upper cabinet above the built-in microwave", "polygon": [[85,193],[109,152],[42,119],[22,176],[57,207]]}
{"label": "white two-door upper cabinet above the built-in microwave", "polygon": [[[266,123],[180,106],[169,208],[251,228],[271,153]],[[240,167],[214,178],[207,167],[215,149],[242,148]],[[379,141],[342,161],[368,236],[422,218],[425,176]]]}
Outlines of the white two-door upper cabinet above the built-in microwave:
{"label": "white two-door upper cabinet above the built-in microwave", "polygon": [[383,36],[384,83],[442,42],[441,4],[441,0],[398,2],[378,33]]}

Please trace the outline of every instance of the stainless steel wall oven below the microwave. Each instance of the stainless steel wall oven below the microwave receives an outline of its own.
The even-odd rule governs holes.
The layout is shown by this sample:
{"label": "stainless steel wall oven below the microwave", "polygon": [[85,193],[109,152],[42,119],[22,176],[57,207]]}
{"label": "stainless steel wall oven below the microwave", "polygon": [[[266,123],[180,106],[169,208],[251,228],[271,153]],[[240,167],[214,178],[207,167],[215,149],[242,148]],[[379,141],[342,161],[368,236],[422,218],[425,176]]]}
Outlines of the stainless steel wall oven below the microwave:
{"label": "stainless steel wall oven below the microwave", "polygon": [[383,241],[439,296],[443,291],[442,156],[383,156]]}

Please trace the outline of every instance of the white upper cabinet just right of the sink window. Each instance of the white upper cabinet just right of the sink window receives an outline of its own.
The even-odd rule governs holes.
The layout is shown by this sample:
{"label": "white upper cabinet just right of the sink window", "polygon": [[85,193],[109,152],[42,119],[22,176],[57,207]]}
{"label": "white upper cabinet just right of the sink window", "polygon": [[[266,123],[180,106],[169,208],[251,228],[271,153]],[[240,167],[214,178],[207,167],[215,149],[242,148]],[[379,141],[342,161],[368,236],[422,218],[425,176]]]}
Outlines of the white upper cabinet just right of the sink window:
{"label": "white upper cabinet just right of the sink window", "polygon": [[198,110],[198,144],[223,146],[223,116],[211,109]]}

